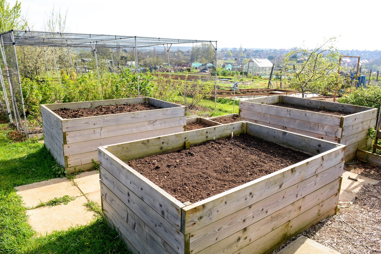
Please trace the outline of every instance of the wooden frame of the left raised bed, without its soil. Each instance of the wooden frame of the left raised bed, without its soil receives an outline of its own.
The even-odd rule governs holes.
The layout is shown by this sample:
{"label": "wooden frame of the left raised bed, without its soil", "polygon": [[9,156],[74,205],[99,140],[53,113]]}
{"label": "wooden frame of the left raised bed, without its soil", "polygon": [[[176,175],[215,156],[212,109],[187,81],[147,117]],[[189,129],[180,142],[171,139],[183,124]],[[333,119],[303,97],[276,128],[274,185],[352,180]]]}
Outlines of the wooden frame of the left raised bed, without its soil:
{"label": "wooden frame of the left raised bed, without its soil", "polygon": [[[100,105],[147,102],[162,109],[63,119],[52,110],[86,109]],[[139,97],[41,105],[44,141],[57,162],[69,172],[88,170],[98,161],[97,147],[184,131],[186,107]]]}

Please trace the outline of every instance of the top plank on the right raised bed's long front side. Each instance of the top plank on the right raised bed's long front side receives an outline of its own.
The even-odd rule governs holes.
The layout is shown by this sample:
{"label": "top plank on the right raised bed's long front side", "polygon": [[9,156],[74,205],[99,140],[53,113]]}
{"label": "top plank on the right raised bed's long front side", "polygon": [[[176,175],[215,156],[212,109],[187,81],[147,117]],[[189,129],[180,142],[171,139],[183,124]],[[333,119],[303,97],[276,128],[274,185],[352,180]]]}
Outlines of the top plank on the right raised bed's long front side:
{"label": "top plank on the right raised bed's long front side", "polygon": [[279,117],[298,119],[320,123],[322,125],[330,125],[340,127],[341,117],[338,115],[328,115],[319,112],[310,112],[306,110],[290,109],[287,107],[278,107],[274,105],[250,103],[240,107],[241,113],[244,110],[254,111],[258,113],[277,115]]}

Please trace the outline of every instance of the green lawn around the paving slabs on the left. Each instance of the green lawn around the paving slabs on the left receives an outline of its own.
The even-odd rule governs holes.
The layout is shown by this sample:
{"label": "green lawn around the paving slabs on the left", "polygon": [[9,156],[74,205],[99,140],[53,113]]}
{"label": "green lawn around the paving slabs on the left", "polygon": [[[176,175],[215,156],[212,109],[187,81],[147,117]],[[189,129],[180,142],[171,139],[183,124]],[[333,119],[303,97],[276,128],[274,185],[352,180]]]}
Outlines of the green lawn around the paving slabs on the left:
{"label": "green lawn around the paving slabs on the left", "polygon": [[[129,253],[101,216],[88,225],[34,236],[26,208],[13,187],[54,178],[52,167],[56,162],[37,141],[10,141],[7,134],[11,130],[0,124],[0,253]],[[57,200],[61,201],[66,199]],[[99,214],[95,204],[89,208]]]}

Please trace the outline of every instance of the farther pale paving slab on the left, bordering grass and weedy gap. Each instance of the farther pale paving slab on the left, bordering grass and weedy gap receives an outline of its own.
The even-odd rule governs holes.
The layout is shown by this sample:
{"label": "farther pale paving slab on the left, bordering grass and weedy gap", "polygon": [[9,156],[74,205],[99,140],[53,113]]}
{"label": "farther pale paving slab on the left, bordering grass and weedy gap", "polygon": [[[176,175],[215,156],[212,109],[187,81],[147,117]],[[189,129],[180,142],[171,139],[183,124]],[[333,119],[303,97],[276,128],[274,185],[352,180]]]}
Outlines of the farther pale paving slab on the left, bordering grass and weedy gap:
{"label": "farther pale paving slab on the left, bordering grass and weedy gap", "polygon": [[81,192],[77,186],[72,185],[66,178],[54,178],[48,181],[35,182],[33,184],[14,187],[16,193],[21,196],[26,207],[33,207],[53,198],[69,195],[80,196]]}

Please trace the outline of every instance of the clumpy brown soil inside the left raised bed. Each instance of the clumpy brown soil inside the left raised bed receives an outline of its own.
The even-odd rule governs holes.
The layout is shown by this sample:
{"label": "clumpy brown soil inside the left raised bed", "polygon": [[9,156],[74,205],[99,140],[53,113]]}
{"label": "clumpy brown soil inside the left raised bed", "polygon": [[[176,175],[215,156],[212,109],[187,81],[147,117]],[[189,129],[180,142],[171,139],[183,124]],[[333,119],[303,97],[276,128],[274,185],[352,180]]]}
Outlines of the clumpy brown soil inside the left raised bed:
{"label": "clumpy brown soil inside the left raised bed", "polygon": [[160,107],[155,107],[152,104],[142,102],[142,103],[131,103],[123,105],[109,105],[109,106],[99,106],[94,109],[57,109],[53,110],[54,113],[59,115],[64,119],[81,118],[81,117],[94,117],[98,115],[112,115],[118,113],[127,112],[138,112],[144,110],[160,109]]}

